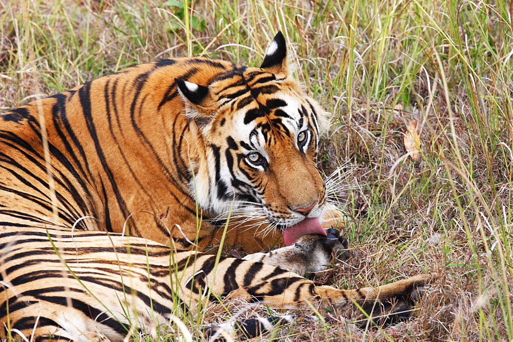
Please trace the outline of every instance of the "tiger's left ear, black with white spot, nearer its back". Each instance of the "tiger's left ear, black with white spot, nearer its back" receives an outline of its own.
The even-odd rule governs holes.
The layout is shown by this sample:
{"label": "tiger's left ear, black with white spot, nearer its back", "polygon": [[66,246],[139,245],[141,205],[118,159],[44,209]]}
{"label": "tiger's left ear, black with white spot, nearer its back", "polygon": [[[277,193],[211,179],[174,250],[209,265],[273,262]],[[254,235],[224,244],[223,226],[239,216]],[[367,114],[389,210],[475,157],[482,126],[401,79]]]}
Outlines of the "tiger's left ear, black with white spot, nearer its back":
{"label": "tiger's left ear, black with white spot, nearer its back", "polygon": [[210,89],[200,86],[200,84],[184,81],[181,78],[175,78],[174,82],[182,100],[190,105],[187,117],[194,119],[199,126],[208,123],[213,114],[209,109],[212,105]]}

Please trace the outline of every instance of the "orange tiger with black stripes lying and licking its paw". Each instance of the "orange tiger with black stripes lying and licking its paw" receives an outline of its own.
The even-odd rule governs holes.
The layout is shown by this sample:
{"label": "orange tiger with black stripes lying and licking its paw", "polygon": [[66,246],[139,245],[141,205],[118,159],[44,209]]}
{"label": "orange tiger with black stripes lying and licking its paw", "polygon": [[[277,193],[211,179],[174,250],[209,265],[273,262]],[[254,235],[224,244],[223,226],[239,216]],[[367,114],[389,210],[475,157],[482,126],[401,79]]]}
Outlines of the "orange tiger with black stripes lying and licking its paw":
{"label": "orange tiger with black stripes lying and licking its paw", "polygon": [[304,277],[347,240],[317,164],[327,113],[288,59],[279,32],[260,68],[156,60],[0,115],[0,336],[123,340],[225,297],[411,302],[435,280]]}

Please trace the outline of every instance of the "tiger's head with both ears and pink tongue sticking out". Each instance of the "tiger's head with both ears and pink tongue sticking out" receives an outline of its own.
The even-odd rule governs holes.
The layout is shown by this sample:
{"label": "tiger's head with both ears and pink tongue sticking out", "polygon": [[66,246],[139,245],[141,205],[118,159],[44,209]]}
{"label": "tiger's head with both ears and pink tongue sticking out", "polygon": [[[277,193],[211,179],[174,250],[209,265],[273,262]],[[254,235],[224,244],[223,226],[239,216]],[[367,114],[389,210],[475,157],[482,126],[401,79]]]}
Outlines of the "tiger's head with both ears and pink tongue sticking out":
{"label": "tiger's head with both ears and pink tongue sticking out", "polygon": [[263,210],[287,245],[325,234],[326,189],[316,160],[327,120],[293,78],[283,34],[260,68],[232,65],[205,86],[175,82],[204,149],[204,167],[190,183],[200,207],[222,217]]}

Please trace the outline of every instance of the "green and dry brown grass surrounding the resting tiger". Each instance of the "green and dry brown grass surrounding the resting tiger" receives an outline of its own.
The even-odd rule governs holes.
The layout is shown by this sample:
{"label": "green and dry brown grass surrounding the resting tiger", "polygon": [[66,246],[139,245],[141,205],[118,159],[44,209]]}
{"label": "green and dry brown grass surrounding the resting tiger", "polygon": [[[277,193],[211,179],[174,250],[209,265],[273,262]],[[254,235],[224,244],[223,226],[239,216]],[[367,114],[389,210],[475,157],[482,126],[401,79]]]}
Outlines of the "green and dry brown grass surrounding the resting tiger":
{"label": "green and dry brown grass surrounding the resting tiger", "polygon": [[[46,3],[0,0],[0,110],[155,58],[203,55],[258,66],[275,32],[284,32],[297,77],[332,113],[325,173],[359,165],[347,177],[352,259],[318,281],[349,288],[428,271],[441,279],[417,306],[417,319],[396,327],[316,324],[278,336],[513,339],[508,2]],[[412,120],[422,158],[396,163]],[[367,213],[356,217],[362,205]],[[205,323],[226,315],[220,306],[211,312]]]}

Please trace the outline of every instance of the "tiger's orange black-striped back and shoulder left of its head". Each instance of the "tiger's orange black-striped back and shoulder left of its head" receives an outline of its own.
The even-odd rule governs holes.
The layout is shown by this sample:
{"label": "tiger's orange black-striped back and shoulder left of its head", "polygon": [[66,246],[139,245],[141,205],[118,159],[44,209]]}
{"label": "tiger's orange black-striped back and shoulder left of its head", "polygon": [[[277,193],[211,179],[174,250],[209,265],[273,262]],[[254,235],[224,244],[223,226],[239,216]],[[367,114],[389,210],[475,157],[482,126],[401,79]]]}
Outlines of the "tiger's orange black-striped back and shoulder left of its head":
{"label": "tiger's orange black-striped back and shoulder left of its head", "polygon": [[[187,168],[191,150],[201,146],[188,144],[189,122],[174,79],[188,75],[209,82],[231,68],[228,62],[210,59],[156,61],[3,114],[0,177],[5,185],[0,198],[9,206],[0,212],[0,222],[71,227],[90,216],[96,220],[81,220],[78,227],[121,232],[137,210],[167,215],[169,207],[182,207],[194,213],[195,226]],[[46,181],[43,118],[58,222]],[[167,221],[169,226],[187,224],[179,214],[171,213],[168,220],[149,215],[138,220],[134,215],[132,234],[167,242]]]}

